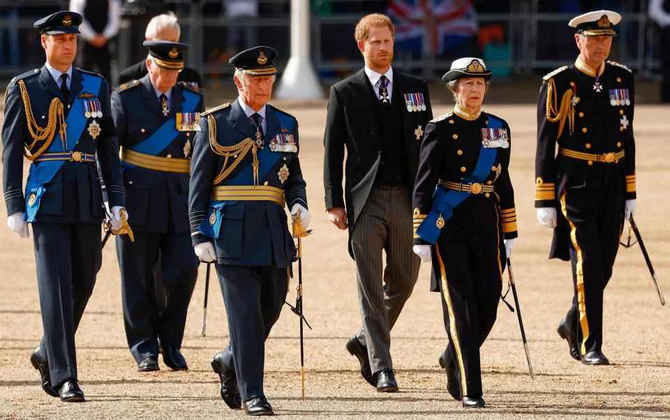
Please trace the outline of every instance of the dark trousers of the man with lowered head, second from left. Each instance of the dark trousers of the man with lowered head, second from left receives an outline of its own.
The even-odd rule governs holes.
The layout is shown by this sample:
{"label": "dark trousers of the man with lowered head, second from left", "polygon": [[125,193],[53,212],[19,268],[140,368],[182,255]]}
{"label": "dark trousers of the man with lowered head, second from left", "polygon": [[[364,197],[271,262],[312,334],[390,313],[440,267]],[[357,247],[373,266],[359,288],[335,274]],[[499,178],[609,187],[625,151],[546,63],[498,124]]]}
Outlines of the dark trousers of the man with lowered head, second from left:
{"label": "dark trousers of the man with lowered head, second from left", "polygon": [[[134,233],[135,242],[117,237],[117,255],[126,339],[139,363],[158,354],[158,339],[163,347],[181,348],[198,257],[188,233]],[[156,302],[156,283],[165,287],[164,308]]]}

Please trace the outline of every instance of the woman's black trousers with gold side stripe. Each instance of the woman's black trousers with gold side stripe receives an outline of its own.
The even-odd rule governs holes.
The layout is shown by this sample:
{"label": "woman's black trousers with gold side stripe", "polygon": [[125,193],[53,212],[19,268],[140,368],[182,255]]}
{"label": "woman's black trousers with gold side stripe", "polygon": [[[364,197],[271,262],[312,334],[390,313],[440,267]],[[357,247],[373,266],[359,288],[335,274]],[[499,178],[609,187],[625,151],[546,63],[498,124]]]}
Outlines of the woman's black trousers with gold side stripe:
{"label": "woman's black trousers with gold side stripe", "polygon": [[447,369],[458,378],[463,396],[482,396],[479,347],[496,322],[502,291],[500,232],[496,203],[471,198],[456,207],[433,247],[449,336]]}

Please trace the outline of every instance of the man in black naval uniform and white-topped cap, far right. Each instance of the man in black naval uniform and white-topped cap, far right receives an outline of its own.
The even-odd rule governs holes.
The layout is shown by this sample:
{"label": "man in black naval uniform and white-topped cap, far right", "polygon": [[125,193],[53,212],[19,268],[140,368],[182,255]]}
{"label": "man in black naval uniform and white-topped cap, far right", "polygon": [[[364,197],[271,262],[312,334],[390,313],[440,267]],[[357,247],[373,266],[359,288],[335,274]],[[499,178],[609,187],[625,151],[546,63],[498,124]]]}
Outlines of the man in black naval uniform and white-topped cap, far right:
{"label": "man in black naval uniform and white-topped cap, far right", "polygon": [[549,257],[570,260],[574,282],[558,334],[589,365],[609,363],[603,292],[624,218],[635,213],[634,80],[629,68],[606,61],[620,20],[598,10],[569,22],[579,57],[544,76],[537,104],[537,220],[553,228]]}

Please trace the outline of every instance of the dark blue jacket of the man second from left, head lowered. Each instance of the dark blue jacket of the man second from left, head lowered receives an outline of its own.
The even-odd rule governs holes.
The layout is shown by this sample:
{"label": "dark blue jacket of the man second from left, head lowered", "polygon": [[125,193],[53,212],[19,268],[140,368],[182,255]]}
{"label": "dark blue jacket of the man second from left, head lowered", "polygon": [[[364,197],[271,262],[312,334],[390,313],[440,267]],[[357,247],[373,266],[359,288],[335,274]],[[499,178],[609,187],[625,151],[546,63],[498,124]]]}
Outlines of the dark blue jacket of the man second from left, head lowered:
{"label": "dark blue jacket of the man second from left, head lowered", "polygon": [[[188,93],[187,93],[188,92]],[[163,116],[149,75],[112,93],[112,113],[119,145],[132,149],[154,134],[165,121],[183,112],[185,95],[199,97],[196,112],[203,110],[202,96],[186,84],[172,87],[170,113]],[[163,158],[190,158],[195,131],[181,131],[163,151]],[[128,221],[134,230],[154,233],[188,233],[188,173],[163,172],[135,166],[124,169]]]}

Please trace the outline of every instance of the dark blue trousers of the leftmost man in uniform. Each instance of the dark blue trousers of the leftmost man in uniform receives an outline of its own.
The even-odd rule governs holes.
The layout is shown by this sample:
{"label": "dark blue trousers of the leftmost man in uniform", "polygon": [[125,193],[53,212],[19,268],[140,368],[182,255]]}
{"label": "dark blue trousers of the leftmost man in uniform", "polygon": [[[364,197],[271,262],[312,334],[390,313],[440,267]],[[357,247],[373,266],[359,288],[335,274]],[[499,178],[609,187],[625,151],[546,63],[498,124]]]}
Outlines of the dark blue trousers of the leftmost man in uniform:
{"label": "dark blue trousers of the leftmost man in uniform", "polygon": [[49,361],[54,387],[77,379],[75,331],[96,284],[102,261],[98,223],[32,223],[37,285],[44,335],[40,347]]}

